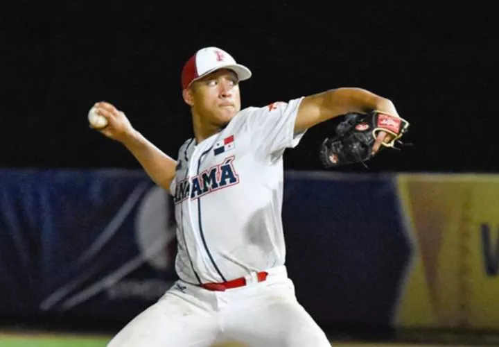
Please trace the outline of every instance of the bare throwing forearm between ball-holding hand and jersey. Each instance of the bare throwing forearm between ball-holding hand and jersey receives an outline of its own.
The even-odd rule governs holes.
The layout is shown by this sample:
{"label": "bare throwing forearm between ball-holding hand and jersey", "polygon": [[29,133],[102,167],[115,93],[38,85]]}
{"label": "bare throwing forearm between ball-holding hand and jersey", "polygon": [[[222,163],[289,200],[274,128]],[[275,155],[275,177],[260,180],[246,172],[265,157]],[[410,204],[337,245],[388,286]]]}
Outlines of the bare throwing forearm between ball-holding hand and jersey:
{"label": "bare throwing forearm between ball-holding hand and jersey", "polygon": [[121,143],[134,155],[146,174],[160,187],[170,189],[170,183],[175,177],[177,162],[158,149],[141,133],[134,133]]}

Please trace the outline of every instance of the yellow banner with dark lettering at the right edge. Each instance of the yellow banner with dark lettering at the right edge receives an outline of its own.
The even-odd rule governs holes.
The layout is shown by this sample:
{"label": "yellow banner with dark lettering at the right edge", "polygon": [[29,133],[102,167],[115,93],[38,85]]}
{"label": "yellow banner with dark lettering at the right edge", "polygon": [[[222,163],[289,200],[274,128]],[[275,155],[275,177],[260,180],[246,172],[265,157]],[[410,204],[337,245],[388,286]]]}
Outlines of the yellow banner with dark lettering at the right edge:
{"label": "yellow banner with dark lettering at the right edge", "polygon": [[499,175],[403,174],[413,254],[395,325],[499,329]]}

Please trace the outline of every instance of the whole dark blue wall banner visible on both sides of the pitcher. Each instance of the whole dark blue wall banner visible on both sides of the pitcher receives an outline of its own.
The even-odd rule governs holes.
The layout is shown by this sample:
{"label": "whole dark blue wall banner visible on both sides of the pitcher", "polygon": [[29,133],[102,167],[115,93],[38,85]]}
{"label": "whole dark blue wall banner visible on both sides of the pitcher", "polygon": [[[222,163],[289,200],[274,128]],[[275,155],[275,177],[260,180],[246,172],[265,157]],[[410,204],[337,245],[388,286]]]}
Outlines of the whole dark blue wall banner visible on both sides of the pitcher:
{"label": "whole dark blue wall banner visible on both sides of the pitcher", "polygon": [[[391,175],[286,173],[299,301],[320,325],[389,325],[410,257]],[[142,171],[0,170],[0,314],[127,321],[177,279],[170,196]]]}

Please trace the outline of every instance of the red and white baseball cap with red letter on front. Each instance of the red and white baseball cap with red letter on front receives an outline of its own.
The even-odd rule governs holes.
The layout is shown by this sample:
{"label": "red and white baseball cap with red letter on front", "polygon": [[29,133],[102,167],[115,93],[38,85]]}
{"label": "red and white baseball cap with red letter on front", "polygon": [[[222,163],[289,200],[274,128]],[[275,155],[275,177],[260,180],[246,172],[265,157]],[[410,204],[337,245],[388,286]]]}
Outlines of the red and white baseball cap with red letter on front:
{"label": "red and white baseball cap with red letter on front", "polygon": [[239,81],[245,81],[252,76],[252,72],[240,65],[226,51],[217,47],[205,47],[197,51],[187,60],[182,69],[182,88],[189,87],[191,83],[218,69],[231,69]]}

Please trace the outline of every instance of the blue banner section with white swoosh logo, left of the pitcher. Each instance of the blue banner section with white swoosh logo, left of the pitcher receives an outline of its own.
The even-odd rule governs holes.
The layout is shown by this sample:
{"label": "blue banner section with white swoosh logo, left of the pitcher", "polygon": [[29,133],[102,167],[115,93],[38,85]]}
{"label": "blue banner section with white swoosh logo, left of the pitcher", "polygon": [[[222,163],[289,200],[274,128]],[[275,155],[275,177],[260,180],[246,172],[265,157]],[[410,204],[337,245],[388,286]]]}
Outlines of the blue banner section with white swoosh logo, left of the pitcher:
{"label": "blue banner section with white swoosh logo, left of the pitcher", "polygon": [[135,171],[0,171],[0,313],[133,316],[176,279],[166,192]]}

